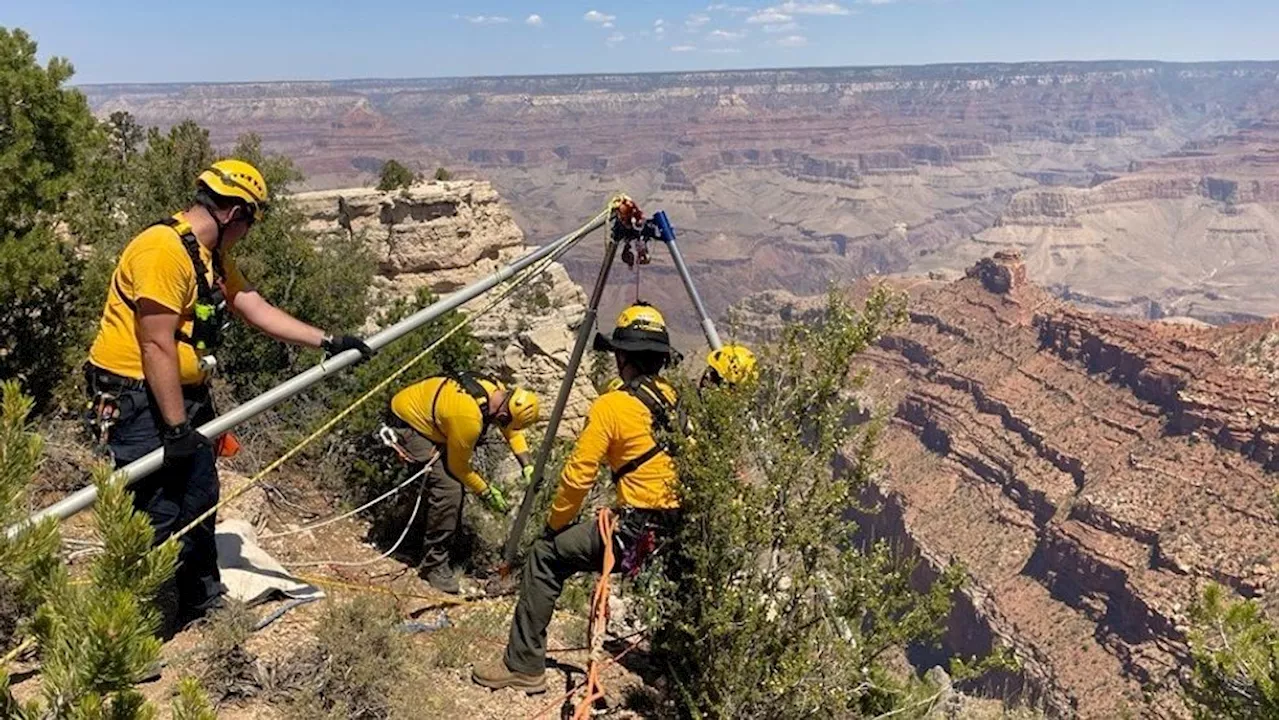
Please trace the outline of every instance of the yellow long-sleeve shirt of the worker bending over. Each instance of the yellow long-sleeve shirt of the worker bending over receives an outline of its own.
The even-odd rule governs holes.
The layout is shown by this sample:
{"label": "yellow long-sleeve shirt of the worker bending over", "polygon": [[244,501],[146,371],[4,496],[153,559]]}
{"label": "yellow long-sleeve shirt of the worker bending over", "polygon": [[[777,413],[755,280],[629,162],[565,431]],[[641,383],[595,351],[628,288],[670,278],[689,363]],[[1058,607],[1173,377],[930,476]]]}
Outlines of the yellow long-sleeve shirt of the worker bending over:
{"label": "yellow long-sleeve shirt of the worker bending over", "polygon": [[[488,392],[495,386],[480,380]],[[467,489],[481,493],[489,488],[480,473],[471,468],[471,454],[480,442],[484,416],[475,397],[449,378],[428,378],[399,391],[392,397],[392,413],[431,442],[444,447],[444,469]],[[529,452],[525,433],[499,428],[516,455]]]}

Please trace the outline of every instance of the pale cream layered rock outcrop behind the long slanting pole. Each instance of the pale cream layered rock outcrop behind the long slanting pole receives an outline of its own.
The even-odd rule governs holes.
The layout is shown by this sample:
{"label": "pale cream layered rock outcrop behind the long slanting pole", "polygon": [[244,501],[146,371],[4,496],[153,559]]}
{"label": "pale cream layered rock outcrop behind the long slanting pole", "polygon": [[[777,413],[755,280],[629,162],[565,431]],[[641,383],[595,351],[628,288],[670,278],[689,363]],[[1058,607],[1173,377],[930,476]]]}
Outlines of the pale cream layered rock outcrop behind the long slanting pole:
{"label": "pale cream layered rock outcrop behind the long slanting pole", "polygon": [[[378,261],[376,305],[412,299],[420,288],[440,296],[477,281],[534,250],[489,183],[431,182],[381,192],[349,188],[296,195],[307,229],[364,240]],[[463,306],[483,309],[506,286]],[[543,402],[544,418],[559,388],[582,319],[586,296],[558,263],[525,290],[475,316],[470,329],[484,347],[483,365],[526,386]],[[581,428],[595,391],[579,374],[561,434]]]}

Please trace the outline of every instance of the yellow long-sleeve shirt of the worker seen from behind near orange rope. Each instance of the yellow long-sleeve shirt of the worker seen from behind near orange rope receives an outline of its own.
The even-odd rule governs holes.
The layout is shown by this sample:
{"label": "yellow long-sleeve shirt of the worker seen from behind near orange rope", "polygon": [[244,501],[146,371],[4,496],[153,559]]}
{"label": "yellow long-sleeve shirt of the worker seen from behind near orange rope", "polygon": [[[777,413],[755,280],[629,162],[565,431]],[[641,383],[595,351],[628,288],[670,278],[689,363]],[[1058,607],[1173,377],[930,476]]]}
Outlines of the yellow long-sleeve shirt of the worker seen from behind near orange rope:
{"label": "yellow long-sleeve shirt of the worker seen from behind near orange rope", "polygon": [[[676,393],[671,386],[660,383],[660,387],[675,402]],[[547,524],[559,530],[573,521],[588,491],[595,484],[600,462],[608,461],[609,469],[617,471],[653,446],[653,415],[644,402],[621,389],[598,397],[564,464]],[[618,480],[618,505],[650,510],[678,507],[676,482],[676,462],[666,452],[659,452]]]}

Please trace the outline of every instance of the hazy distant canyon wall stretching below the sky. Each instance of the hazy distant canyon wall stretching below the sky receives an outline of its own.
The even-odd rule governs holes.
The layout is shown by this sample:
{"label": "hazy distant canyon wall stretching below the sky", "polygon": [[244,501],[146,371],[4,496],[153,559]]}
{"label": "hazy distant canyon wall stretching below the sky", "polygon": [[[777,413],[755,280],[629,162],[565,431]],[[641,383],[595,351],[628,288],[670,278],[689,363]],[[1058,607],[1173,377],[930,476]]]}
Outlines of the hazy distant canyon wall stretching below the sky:
{"label": "hazy distant canyon wall stretching below the sky", "polygon": [[[1280,309],[1274,283],[1240,269],[1276,237],[1242,218],[1274,208],[1277,81],[1275,63],[1100,61],[84,91],[100,114],[193,118],[220,143],[255,132],[311,187],[369,184],[388,158],[483,177],[532,242],[626,191],[667,210],[714,315],[756,291],[960,272],[1023,249],[1060,296],[1220,320]],[[1198,202],[1236,219],[1180,224]],[[1183,243],[1235,265],[1206,266]],[[580,283],[593,250],[564,258]],[[1133,266],[1148,258],[1162,266]],[[659,302],[681,296],[663,263],[641,284]],[[612,288],[602,314],[627,300]],[[668,315],[677,341],[698,341],[686,305]]]}

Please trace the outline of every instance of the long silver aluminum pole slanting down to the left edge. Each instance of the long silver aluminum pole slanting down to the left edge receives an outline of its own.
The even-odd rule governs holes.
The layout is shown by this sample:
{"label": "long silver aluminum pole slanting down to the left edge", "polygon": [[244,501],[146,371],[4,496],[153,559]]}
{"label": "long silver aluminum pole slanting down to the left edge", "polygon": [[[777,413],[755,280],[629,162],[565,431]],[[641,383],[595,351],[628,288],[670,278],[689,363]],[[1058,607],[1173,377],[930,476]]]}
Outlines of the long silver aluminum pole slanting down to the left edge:
{"label": "long silver aluminum pole slanting down to the left edge", "polygon": [[[516,275],[516,273],[524,270],[525,268],[532,265],[534,263],[538,263],[539,260],[543,260],[547,256],[556,254],[567,245],[577,242],[584,236],[604,225],[607,219],[608,214],[600,213],[599,215],[595,217],[595,219],[582,225],[577,231],[566,234],[564,237],[557,240],[556,242],[552,242],[550,245],[534,250],[527,255],[520,258],[511,265],[507,265],[506,268],[493,273],[492,275],[468,284],[467,287],[447,297],[440,299],[439,301],[431,304],[428,307],[424,307],[422,310],[419,310],[417,313],[410,315],[408,318],[404,318],[403,320],[396,323],[394,325],[370,336],[369,338],[366,338],[365,342],[372,350],[380,350],[381,347],[404,337],[406,334],[439,318],[440,315],[444,315],[445,313],[456,310],[457,307],[470,302],[471,300],[475,300],[480,295],[488,292],[489,290],[493,290],[497,284],[511,279],[512,277]],[[248,400],[243,405],[234,407],[229,413],[214,418],[212,420],[201,425],[198,428],[198,432],[200,434],[209,438],[218,437],[221,433],[225,433],[227,430],[239,425],[241,423],[250,420],[265,413],[266,410],[270,410],[271,407],[279,405],[280,402],[298,395],[300,392],[310,388],[311,386],[319,383],[320,380],[328,378],[329,375],[333,375],[334,373],[346,369],[347,366],[355,364],[357,360],[360,360],[358,350],[348,350],[346,352],[340,352],[333,357],[329,357],[328,360],[324,360],[320,364],[307,370],[303,370],[302,373],[298,373],[293,378],[275,386],[274,388],[264,392],[262,395],[259,395],[257,397]],[[129,462],[124,468],[116,470],[115,474],[113,475],[113,480],[115,482],[123,480],[125,486],[132,484],[150,475],[151,473],[156,471],[163,461],[164,461],[164,450],[163,448],[154,450],[147,455],[143,455],[138,460],[134,460],[133,462]],[[27,519],[27,523],[38,523],[46,518],[58,518],[59,520],[65,520],[67,518],[70,518],[72,515],[76,515],[77,512],[86,510],[87,507],[93,505],[95,501],[97,501],[97,487],[88,486],[73,492],[72,495],[64,497],[63,500],[59,500],[58,502],[50,505],[49,507],[45,507],[44,510],[36,512],[35,515]],[[18,523],[10,527],[8,530],[5,530],[5,533],[8,534],[8,537],[13,538],[18,534],[18,532],[23,528],[23,525],[24,523]]]}

